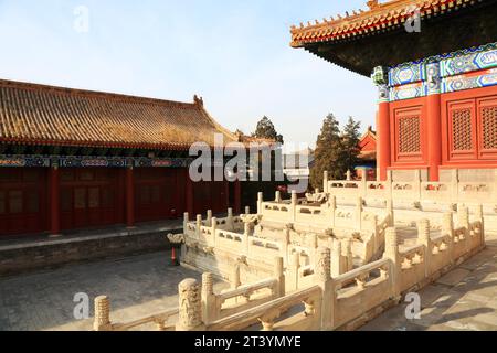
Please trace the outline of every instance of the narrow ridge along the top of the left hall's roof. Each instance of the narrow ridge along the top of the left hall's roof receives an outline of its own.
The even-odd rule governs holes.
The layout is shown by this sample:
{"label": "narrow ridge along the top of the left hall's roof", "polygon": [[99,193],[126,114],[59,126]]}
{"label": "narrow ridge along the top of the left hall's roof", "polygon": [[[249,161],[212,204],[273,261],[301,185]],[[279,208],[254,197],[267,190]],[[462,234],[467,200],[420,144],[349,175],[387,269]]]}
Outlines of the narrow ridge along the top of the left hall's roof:
{"label": "narrow ridge along the top of the left hall's roof", "polygon": [[74,95],[80,97],[95,97],[95,98],[112,98],[121,101],[135,101],[142,104],[156,104],[169,107],[184,107],[184,108],[202,108],[199,101],[186,103],[178,100],[168,100],[161,98],[150,98],[145,96],[134,96],[128,94],[112,93],[105,90],[93,90],[84,88],[71,88],[63,86],[54,86],[46,84],[36,84],[30,82],[20,82],[12,79],[0,78],[0,87],[12,87],[17,89],[31,89],[31,90],[46,90],[56,94]]}

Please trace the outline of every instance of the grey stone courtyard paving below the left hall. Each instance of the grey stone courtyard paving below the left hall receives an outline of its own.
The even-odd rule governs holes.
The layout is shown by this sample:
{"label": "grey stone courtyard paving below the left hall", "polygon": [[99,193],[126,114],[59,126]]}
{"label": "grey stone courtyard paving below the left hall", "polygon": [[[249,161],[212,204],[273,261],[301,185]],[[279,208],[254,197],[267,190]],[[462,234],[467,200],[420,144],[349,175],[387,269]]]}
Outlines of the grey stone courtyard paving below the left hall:
{"label": "grey stone courtyard paving below the left hall", "polygon": [[[156,253],[0,279],[0,330],[91,330],[92,320],[74,319],[74,295],[110,298],[112,320],[139,319],[178,306],[178,284],[201,274],[172,267],[170,253]],[[225,288],[216,284],[215,290]]]}

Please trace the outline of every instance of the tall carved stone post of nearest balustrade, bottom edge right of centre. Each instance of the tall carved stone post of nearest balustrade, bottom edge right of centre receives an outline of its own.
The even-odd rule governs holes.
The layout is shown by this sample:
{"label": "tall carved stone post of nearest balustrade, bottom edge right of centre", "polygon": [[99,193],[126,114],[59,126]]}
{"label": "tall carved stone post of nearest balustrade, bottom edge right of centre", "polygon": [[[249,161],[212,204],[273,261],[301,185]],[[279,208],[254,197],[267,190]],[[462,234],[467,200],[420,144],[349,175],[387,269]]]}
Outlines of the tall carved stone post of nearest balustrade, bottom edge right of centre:
{"label": "tall carved stone post of nearest balustrade, bottom edge right of centre", "polygon": [[319,247],[315,257],[315,281],[321,288],[320,327],[327,331],[334,329],[334,303],[336,301],[331,279],[331,254],[329,248]]}

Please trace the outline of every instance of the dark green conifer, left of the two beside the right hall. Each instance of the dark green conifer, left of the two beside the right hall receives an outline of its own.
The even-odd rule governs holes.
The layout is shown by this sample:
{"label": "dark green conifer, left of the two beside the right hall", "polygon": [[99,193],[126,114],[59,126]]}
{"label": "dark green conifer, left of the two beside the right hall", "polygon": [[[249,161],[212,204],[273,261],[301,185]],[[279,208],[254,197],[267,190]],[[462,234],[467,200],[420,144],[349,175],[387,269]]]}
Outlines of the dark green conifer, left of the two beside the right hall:
{"label": "dark green conifer, left of the two beside the right hall", "polygon": [[343,151],[338,120],[328,114],[318,136],[315,151],[315,163],[310,170],[310,184],[322,189],[322,175],[328,171],[331,179],[343,178],[343,167],[339,165]]}

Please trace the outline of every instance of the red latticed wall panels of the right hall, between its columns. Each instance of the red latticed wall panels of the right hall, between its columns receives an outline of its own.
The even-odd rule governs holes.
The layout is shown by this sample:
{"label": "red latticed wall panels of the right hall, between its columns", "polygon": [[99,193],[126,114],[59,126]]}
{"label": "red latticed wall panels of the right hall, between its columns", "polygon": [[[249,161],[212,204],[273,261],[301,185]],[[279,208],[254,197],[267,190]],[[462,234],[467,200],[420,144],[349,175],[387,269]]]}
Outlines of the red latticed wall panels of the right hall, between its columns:
{"label": "red latticed wall panels of the right hall, between its columns", "polygon": [[425,169],[429,143],[440,143],[441,168],[497,167],[497,87],[443,94],[441,133],[427,140],[427,99],[390,103],[391,169]]}

